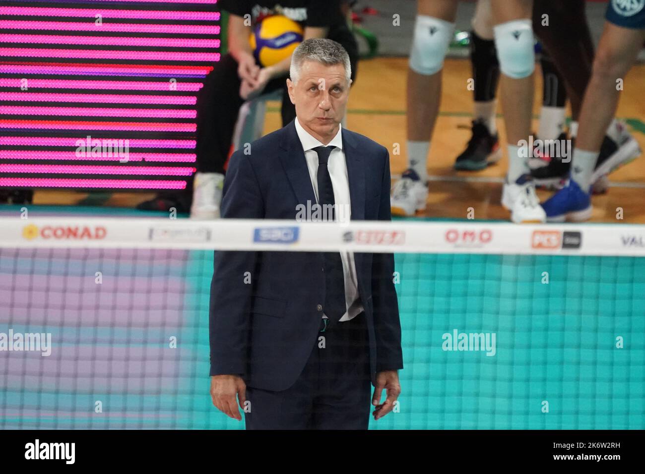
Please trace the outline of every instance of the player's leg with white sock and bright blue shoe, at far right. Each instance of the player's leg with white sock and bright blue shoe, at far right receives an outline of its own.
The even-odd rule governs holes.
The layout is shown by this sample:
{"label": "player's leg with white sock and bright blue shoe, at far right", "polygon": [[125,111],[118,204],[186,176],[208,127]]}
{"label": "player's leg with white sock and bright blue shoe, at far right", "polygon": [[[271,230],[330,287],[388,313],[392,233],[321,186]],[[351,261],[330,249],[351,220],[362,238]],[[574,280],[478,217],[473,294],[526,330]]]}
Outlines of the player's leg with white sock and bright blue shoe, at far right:
{"label": "player's leg with white sock and bright blue shoe, at far right", "polygon": [[[610,3],[608,21],[605,22],[582,103],[571,178],[564,188],[542,204],[549,221],[585,221],[591,217],[590,188],[604,132],[618,106],[619,83],[635,62],[645,40],[645,9],[641,14],[633,15],[628,23],[622,21],[624,17],[612,17],[610,11],[613,8]],[[608,170],[610,166],[608,164]]]}

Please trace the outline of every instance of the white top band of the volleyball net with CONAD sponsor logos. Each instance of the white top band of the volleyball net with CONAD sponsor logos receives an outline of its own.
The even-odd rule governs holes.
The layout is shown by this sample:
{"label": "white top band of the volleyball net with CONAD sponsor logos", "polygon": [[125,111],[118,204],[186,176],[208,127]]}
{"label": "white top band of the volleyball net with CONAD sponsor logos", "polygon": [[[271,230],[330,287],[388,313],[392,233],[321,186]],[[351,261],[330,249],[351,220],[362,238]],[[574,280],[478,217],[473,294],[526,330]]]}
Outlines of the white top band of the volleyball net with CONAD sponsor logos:
{"label": "white top band of the volleyball net with CONAD sponsor logos", "polygon": [[5,217],[0,218],[0,247],[645,257],[645,225]]}

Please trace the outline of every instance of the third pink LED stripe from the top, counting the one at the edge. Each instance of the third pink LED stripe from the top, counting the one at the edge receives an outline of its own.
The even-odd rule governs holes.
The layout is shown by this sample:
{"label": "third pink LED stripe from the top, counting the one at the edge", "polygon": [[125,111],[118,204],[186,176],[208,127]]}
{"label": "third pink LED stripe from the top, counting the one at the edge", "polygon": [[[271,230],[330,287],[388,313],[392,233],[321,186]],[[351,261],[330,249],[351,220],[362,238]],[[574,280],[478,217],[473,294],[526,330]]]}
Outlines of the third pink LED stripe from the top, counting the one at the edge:
{"label": "third pink LED stripe from the top, counting the one at the edge", "polygon": [[103,23],[103,25],[97,26],[94,23],[94,19],[85,23],[79,21],[0,20],[0,28],[12,30],[168,33],[182,35],[219,35],[221,29],[219,26],[208,25],[141,25],[140,23]]}

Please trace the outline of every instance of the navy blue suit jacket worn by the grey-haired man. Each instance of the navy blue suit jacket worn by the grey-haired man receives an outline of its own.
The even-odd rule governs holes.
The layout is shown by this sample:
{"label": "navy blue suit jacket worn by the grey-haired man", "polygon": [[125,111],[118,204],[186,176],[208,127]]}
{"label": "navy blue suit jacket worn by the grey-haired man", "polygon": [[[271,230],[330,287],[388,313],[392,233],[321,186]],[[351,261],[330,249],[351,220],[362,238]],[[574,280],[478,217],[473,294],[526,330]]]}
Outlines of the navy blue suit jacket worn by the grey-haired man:
{"label": "navy blue suit jacket worn by the grey-haired man", "polygon": [[[352,221],[390,221],[390,155],[342,128]],[[303,146],[292,121],[233,153],[223,218],[295,220],[316,202]],[[355,253],[365,308],[372,384],[375,373],[403,368],[392,253]],[[210,375],[242,375],[250,387],[286,390],[319,336],[324,303],[322,252],[215,252],[210,292]],[[252,283],[244,282],[250,272]],[[248,275],[248,273],[246,273]],[[338,324],[343,324],[338,323]]]}

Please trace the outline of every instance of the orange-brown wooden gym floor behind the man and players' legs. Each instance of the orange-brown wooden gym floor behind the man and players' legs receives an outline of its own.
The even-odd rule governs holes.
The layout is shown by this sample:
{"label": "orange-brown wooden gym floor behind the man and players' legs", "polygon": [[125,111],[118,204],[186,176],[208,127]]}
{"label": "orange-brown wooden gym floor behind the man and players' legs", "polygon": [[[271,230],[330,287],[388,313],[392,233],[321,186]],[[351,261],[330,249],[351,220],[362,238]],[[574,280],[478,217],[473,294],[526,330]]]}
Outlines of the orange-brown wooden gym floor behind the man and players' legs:
{"label": "orange-brown wooden gym floor behind the man and players' legs", "polygon": [[[406,166],[406,71],[407,58],[380,57],[359,64],[355,86],[348,104],[350,130],[362,133],[390,150],[392,173],[401,173]],[[504,158],[481,172],[457,172],[452,165],[455,157],[464,150],[470,130],[457,128],[470,126],[472,92],[466,90],[466,80],[471,77],[470,62],[466,59],[446,59],[444,66],[441,112],[435,127],[430,148],[428,173],[431,177],[430,195],[425,213],[430,218],[465,219],[468,208],[475,210],[475,219],[508,219],[508,212],[500,204],[502,179],[507,168],[506,148]],[[535,74],[535,117],[539,114],[542,84],[539,64]],[[617,117],[628,119],[630,130],[645,150],[645,64],[635,66],[626,77]],[[499,96],[499,94],[498,94]],[[269,103],[265,129],[268,133],[281,126],[279,103]],[[501,106],[498,106],[498,114]],[[506,143],[504,123],[497,119],[500,143]],[[538,121],[533,122],[537,131]],[[401,153],[393,155],[395,143]],[[593,197],[592,222],[645,223],[645,157],[627,164],[610,175],[608,193]],[[539,191],[542,200],[550,192]],[[145,193],[114,193],[100,200],[103,206],[132,207],[149,199]],[[38,191],[34,204],[91,203],[87,193],[63,191]],[[99,202],[97,202],[98,204]],[[617,221],[617,208],[622,208],[624,220]]]}

